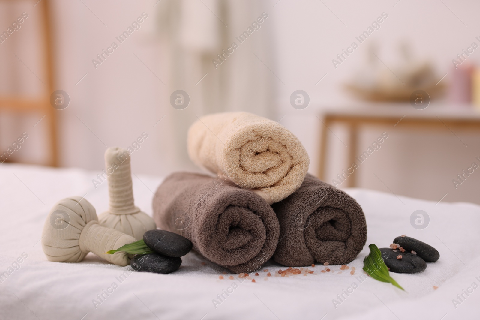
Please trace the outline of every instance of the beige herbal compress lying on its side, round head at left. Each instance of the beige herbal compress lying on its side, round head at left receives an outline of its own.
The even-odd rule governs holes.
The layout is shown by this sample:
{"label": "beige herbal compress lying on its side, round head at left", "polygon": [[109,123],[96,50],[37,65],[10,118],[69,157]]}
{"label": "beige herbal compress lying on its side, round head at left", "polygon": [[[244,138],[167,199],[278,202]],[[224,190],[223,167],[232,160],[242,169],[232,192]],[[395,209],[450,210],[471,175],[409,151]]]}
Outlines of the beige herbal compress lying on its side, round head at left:
{"label": "beige herbal compress lying on its side, round head at left", "polygon": [[80,262],[92,251],[120,266],[130,264],[125,252],[105,252],[136,241],[118,230],[99,225],[95,208],[81,197],[58,201],[48,214],[42,236],[42,248],[49,261]]}

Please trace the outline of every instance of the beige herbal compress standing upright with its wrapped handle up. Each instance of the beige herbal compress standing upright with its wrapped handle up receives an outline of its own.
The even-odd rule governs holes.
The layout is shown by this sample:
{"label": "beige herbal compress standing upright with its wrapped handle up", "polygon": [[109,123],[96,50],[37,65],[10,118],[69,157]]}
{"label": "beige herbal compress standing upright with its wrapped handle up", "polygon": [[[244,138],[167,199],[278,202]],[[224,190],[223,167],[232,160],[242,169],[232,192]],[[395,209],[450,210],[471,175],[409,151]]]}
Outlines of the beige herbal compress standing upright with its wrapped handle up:
{"label": "beige herbal compress standing upright with its wrapped handle up", "polygon": [[130,154],[122,148],[108,148],[105,166],[110,205],[108,211],[100,214],[100,224],[140,240],[146,231],[156,229],[156,224],[133,202]]}

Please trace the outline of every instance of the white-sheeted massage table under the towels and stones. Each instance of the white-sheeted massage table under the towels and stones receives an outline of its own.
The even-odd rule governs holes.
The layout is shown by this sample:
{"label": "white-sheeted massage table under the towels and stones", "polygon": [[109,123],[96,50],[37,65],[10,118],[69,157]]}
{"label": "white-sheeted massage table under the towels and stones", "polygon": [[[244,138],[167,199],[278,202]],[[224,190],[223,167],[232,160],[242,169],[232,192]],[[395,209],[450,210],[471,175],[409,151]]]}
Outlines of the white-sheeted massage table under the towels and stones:
{"label": "white-sheeted massage table under the towels and stones", "polygon": [[[0,319],[478,318],[478,205],[345,189],[363,208],[367,244],[357,259],[348,263],[350,269],[341,271],[340,266],[330,265],[331,271],[322,273],[323,265],[309,266],[313,273],[307,276],[274,276],[286,267],[270,260],[259,276],[250,274],[255,279],[252,282],[195,251],[182,257],[180,269],[170,274],[134,272],[130,266],[101,261],[93,253],[79,263],[47,261],[40,240],[55,202],[76,195],[90,201],[97,214],[108,209],[107,183],[96,188],[92,183],[98,173],[1,164]],[[132,178],[135,204],[151,215],[153,193],[162,177]],[[410,224],[410,215],[416,210],[430,217],[424,229]],[[405,291],[362,271],[369,244],[388,247],[403,234],[440,252],[440,260],[428,263],[424,272],[391,273]],[[351,267],[356,268],[353,275]],[[264,269],[272,276],[266,277]]]}

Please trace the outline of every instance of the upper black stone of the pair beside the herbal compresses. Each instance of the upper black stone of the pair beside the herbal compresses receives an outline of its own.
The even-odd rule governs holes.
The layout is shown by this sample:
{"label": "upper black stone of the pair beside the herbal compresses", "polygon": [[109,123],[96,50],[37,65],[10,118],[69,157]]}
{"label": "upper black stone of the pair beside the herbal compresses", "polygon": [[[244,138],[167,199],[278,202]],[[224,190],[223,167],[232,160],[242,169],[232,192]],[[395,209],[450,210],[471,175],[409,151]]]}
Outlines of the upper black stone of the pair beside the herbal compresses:
{"label": "upper black stone of the pair beside the herbal compresses", "polygon": [[144,233],[144,242],[156,253],[168,257],[182,257],[193,247],[192,242],[186,237],[167,230],[148,230]]}

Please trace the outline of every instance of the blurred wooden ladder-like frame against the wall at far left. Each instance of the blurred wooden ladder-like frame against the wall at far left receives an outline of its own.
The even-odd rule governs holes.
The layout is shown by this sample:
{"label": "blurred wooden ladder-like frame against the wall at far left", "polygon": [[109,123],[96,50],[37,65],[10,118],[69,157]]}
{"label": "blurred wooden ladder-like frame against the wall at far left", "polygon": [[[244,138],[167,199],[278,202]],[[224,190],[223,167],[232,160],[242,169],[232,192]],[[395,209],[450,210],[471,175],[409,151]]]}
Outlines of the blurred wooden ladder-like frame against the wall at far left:
{"label": "blurred wooden ladder-like frame against the wall at far left", "polygon": [[[13,0],[1,0],[6,2],[14,2]],[[42,14],[41,30],[43,34],[43,47],[45,56],[45,69],[47,81],[45,83],[45,92],[37,98],[24,98],[22,96],[0,96],[0,110],[8,110],[18,114],[25,113],[41,113],[45,115],[45,121],[48,128],[48,141],[50,144],[50,152],[48,165],[59,165],[58,137],[57,137],[57,110],[50,105],[50,94],[54,91],[55,70],[53,63],[53,44],[52,44],[52,27],[51,12],[49,0],[32,0],[32,6],[40,7]]]}

